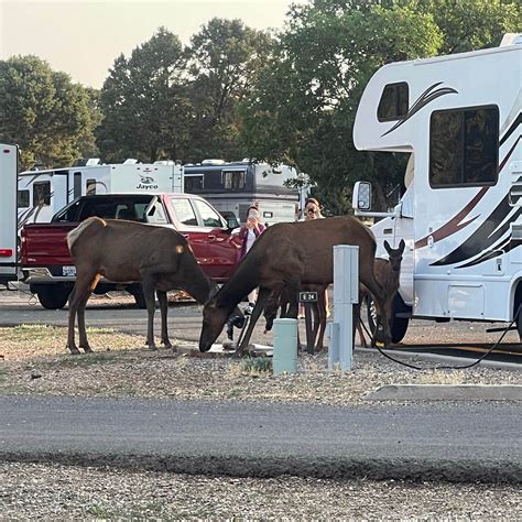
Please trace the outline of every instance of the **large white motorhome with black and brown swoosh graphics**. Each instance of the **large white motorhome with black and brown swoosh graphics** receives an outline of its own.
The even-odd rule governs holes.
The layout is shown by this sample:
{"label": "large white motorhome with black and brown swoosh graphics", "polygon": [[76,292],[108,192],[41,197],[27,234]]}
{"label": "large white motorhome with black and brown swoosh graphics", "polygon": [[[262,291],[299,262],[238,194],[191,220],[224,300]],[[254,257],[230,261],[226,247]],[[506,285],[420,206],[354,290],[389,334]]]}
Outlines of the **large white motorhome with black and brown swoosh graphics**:
{"label": "large white motorhome with black and brown swoosh graphics", "polygon": [[[407,317],[515,317],[522,304],[521,109],[522,35],[505,35],[496,48],[385,65],[366,87],[356,148],[411,154],[400,204],[372,227],[378,255],[385,257],[384,240],[407,246],[394,341]],[[356,214],[371,216],[370,200],[371,186],[357,183]]]}

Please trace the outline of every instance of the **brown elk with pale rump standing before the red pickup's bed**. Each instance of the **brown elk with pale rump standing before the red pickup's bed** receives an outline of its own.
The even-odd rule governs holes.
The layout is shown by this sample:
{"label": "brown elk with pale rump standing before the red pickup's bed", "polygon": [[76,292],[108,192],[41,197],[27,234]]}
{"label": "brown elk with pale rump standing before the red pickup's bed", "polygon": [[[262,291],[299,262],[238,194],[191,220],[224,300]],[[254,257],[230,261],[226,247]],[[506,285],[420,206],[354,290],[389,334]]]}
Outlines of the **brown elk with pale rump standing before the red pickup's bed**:
{"label": "brown elk with pale rump standing before the red pickup's bed", "polygon": [[217,291],[199,268],[187,240],[173,229],[140,222],[91,217],[67,236],[76,264],[76,284],[69,297],[67,348],[79,354],[75,345],[75,317],[78,316],[79,347],[93,351],[85,329],[85,306],[100,278],[113,282],[143,283],[149,313],[146,344],[154,344],[154,293],[161,309],[161,340],[171,348],[167,334],[166,292],[180,289],[198,303],[205,303]]}

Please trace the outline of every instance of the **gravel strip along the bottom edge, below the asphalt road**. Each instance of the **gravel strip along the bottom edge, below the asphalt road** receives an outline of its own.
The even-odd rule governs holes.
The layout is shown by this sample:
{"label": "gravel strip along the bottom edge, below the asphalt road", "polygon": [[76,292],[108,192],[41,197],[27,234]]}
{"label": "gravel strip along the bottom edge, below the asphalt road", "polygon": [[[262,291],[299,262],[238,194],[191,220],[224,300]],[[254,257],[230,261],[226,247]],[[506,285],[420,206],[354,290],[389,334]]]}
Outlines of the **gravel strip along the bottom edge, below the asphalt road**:
{"label": "gravel strip along the bottom edge, below the asphalt road", "polygon": [[207,478],[0,464],[0,519],[522,520],[509,486]]}

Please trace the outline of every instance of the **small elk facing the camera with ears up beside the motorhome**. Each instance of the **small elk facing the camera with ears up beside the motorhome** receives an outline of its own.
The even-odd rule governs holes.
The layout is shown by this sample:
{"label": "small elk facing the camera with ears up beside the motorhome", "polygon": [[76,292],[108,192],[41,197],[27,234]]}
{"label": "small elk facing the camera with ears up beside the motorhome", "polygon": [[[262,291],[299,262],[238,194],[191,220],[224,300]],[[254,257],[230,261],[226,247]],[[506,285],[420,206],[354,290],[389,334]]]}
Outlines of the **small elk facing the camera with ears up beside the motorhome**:
{"label": "small elk facing the camera with ears up beside the motorhome", "polygon": [[[396,291],[399,290],[399,278],[401,274],[401,263],[402,263],[402,255],[404,253],[405,243],[404,240],[401,239],[399,243],[399,248],[392,249],[388,241],[384,241],[384,248],[387,249],[389,259],[381,259],[376,258],[376,279],[379,284],[382,286],[384,292],[384,309],[385,316],[391,320],[393,315],[393,298],[395,297]],[[365,348],[368,346],[365,333],[362,331],[361,320],[360,320],[360,305],[365,297],[369,295],[368,289],[363,285],[359,289],[359,306],[357,307],[357,314],[355,319],[355,326],[359,334],[359,338],[361,341],[361,346]],[[390,325],[391,328],[391,325]]]}

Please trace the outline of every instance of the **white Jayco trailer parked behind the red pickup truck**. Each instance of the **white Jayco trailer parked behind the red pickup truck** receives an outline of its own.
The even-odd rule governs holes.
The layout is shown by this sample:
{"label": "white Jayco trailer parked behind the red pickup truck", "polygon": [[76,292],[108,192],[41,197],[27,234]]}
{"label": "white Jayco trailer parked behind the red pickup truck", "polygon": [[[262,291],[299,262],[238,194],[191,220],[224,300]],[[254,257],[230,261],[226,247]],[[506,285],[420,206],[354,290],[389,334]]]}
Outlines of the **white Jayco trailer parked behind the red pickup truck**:
{"label": "white Jayco trailer parked behind the red pickup truck", "polygon": [[47,222],[65,205],[86,194],[182,193],[183,167],[173,161],[152,164],[127,160],[121,164],[26,171],[19,175],[19,228],[28,222]]}

